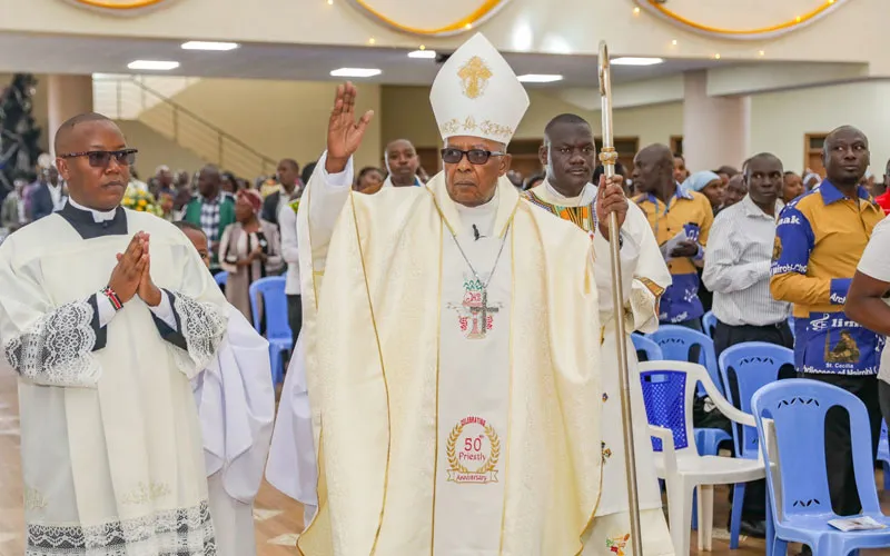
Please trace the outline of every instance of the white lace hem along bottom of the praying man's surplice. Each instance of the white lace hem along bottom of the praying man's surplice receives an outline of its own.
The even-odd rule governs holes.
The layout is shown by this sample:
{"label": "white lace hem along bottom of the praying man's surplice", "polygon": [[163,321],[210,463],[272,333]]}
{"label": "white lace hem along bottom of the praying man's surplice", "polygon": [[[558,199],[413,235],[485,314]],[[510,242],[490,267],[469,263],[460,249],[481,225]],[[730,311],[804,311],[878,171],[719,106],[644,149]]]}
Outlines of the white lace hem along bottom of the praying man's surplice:
{"label": "white lace hem along bottom of the praying man's surplice", "polygon": [[207,502],[136,519],[77,525],[28,525],[26,556],[216,556]]}

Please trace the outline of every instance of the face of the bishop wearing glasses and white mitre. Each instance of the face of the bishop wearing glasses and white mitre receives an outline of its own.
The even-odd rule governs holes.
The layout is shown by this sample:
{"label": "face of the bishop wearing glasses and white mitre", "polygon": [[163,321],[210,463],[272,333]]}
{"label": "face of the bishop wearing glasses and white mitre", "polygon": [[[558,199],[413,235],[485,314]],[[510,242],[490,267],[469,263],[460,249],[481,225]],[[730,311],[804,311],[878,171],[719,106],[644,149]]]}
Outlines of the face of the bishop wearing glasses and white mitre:
{"label": "face of the bishop wearing glasses and white mitre", "polygon": [[511,156],[503,143],[478,137],[449,137],[442,149],[445,186],[454,202],[485,205],[494,197],[497,179],[510,170]]}

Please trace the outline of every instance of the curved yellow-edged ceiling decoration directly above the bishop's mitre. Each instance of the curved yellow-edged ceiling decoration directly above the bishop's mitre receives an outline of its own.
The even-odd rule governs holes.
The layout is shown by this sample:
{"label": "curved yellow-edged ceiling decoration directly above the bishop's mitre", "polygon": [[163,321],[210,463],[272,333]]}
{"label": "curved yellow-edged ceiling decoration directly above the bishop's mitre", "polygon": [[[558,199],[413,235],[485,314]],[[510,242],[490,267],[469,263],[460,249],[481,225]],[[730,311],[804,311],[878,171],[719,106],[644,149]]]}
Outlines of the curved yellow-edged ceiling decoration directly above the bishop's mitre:
{"label": "curved yellow-edged ceiling decoration directly above the bishop's mitre", "polygon": [[[439,9],[411,0],[349,0],[372,19],[398,31],[425,37],[448,37],[481,24],[508,0],[448,0]],[[447,6],[447,8],[445,8]]]}

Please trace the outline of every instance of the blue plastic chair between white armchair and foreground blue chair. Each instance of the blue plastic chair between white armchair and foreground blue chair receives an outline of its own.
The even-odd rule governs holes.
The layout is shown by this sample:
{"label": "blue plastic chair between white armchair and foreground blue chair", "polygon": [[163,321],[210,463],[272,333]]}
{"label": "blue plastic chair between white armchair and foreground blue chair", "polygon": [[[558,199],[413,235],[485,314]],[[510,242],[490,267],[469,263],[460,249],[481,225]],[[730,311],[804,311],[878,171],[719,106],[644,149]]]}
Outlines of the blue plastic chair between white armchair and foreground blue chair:
{"label": "blue plastic chair between white armchair and foreground blue chair", "polygon": [[[751,397],[761,387],[779,379],[779,370],[783,365],[794,365],[794,351],[783,346],[764,341],[748,341],[726,348],[720,354],[720,376],[726,385],[726,399],[736,409],[751,413]],[[732,395],[730,377],[735,379],[739,398]],[[758,431],[754,427],[735,425],[732,428],[732,440],[735,457],[758,459]],[[730,549],[739,548],[739,532],[742,525],[742,502],[744,500],[744,483],[734,487],[732,495],[732,513],[730,522]],[[767,538],[770,538],[767,524]]]}

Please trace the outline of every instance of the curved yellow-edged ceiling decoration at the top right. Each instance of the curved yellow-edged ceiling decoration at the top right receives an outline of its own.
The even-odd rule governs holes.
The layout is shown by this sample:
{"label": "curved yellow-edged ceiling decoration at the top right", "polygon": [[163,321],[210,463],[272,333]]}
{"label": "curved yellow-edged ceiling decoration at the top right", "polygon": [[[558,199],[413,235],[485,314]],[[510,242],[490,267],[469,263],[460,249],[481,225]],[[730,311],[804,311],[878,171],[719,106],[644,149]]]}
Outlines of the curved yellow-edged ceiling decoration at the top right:
{"label": "curved yellow-edged ceiling decoration at the top right", "polygon": [[848,0],[634,0],[689,31],[733,40],[772,39],[812,24]]}

